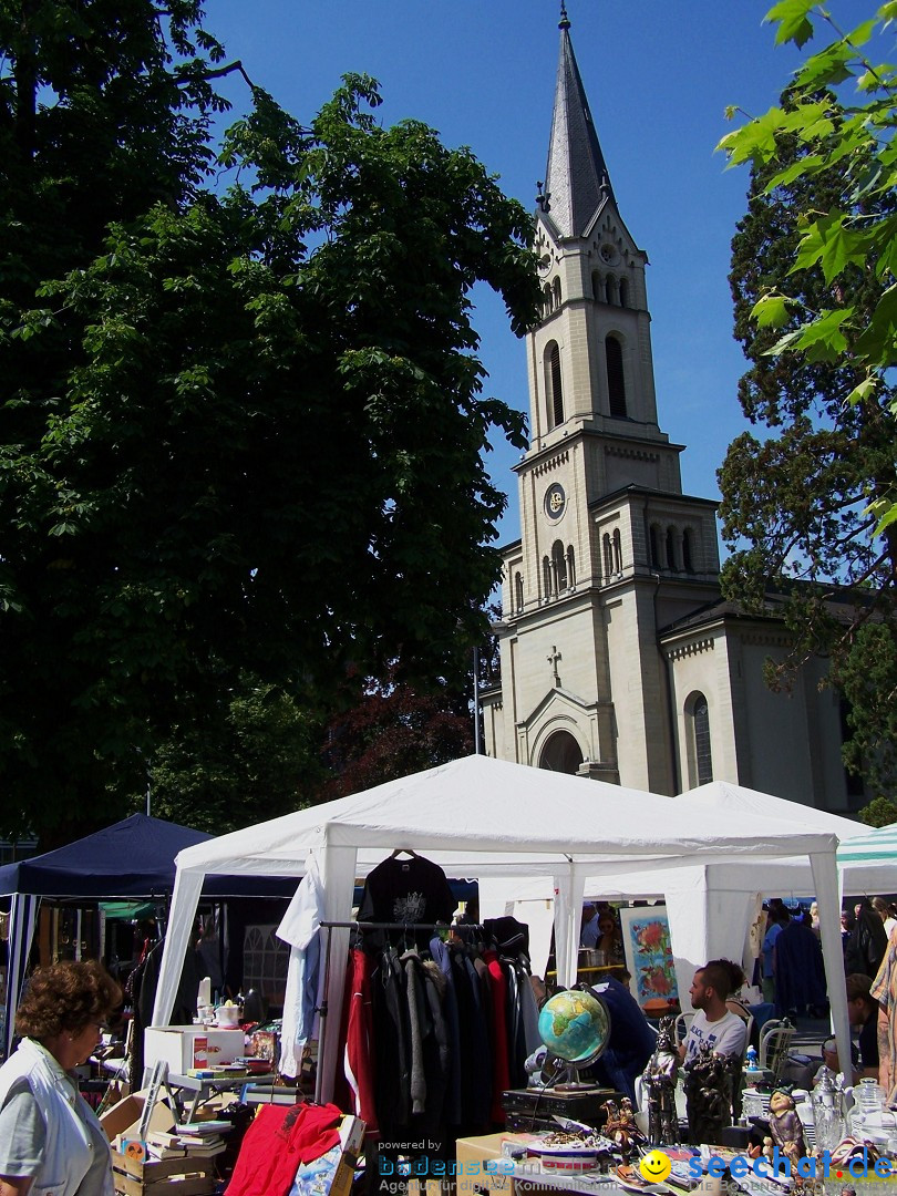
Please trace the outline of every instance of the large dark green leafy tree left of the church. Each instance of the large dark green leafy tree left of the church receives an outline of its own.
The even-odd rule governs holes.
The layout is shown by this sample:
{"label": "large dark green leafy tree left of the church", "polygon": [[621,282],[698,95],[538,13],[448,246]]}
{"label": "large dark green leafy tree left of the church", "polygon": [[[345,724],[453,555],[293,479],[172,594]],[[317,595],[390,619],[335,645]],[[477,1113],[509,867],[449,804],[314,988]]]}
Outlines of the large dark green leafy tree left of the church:
{"label": "large dark green leafy tree left of the church", "polygon": [[520,206],[427,127],[382,128],[365,78],[307,128],[254,86],[214,146],[199,6],[124,7],[0,25],[11,832],[117,814],[242,678],[319,710],[350,667],[447,671],[499,569],[482,453],[523,444],[469,300],[484,280],[533,317]]}

